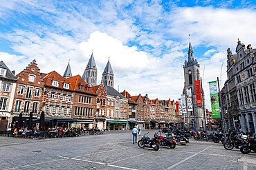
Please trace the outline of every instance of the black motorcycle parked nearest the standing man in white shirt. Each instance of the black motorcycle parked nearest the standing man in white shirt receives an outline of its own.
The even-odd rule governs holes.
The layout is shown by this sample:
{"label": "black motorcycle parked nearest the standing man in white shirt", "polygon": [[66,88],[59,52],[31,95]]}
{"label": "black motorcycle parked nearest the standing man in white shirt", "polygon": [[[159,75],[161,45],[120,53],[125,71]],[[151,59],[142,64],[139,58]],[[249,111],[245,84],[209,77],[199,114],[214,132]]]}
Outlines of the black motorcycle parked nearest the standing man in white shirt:
{"label": "black motorcycle parked nearest the standing man in white shirt", "polygon": [[155,151],[158,151],[159,149],[158,142],[156,142],[155,138],[150,139],[148,136],[146,136],[147,134],[149,134],[149,132],[144,134],[143,137],[140,140],[138,140],[138,147],[140,148],[149,147],[149,148],[153,148]]}

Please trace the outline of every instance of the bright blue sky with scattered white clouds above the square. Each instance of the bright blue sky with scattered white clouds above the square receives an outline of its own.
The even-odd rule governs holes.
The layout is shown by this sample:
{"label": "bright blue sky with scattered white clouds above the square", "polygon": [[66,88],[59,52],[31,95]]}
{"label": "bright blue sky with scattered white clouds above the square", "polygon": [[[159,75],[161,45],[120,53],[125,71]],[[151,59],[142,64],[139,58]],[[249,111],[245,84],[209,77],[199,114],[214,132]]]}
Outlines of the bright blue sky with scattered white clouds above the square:
{"label": "bright blue sky with scattered white clouds above the square", "polygon": [[36,59],[41,72],[61,75],[70,60],[82,76],[93,52],[98,84],[109,59],[119,92],[177,100],[191,34],[211,110],[208,82],[226,81],[228,47],[235,54],[238,38],[256,46],[255,9],[250,0],[0,0],[0,60],[19,73]]}

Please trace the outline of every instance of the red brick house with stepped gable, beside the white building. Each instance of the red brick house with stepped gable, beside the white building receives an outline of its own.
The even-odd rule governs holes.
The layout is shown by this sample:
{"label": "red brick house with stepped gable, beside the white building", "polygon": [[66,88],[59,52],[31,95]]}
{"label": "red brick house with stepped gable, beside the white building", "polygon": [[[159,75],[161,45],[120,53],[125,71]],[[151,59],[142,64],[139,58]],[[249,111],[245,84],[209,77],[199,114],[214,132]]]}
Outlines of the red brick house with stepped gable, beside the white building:
{"label": "red brick house with stepped gable, beside the white building", "polygon": [[24,125],[26,125],[26,118],[28,118],[30,111],[33,112],[34,118],[39,118],[44,81],[35,60],[17,74],[17,77],[17,86],[12,105],[12,124],[17,123],[18,116],[22,112]]}

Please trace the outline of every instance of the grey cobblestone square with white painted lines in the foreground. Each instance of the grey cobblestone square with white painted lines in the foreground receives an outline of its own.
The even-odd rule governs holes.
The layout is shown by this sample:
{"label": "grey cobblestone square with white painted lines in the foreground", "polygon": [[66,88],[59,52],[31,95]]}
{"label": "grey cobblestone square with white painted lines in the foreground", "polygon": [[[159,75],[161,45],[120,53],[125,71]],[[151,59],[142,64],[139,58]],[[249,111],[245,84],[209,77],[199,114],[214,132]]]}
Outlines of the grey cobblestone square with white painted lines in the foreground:
{"label": "grey cobblestone square with white painted lines in the foreground", "polygon": [[0,141],[0,169],[256,169],[256,153],[196,140],[175,149],[140,149],[130,131],[46,140],[1,136]]}

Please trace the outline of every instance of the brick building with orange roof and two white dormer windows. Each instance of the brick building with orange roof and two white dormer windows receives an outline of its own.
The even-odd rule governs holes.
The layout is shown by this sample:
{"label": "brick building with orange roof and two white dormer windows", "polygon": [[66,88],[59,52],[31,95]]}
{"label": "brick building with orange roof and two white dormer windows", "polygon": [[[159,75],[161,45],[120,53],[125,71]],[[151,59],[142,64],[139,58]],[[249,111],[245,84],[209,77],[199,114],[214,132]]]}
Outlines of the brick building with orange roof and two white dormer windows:
{"label": "brick building with orange roof and two white dormer windows", "polygon": [[43,106],[46,127],[70,127],[73,111],[73,85],[55,71],[42,74],[42,76],[44,94],[47,95]]}

